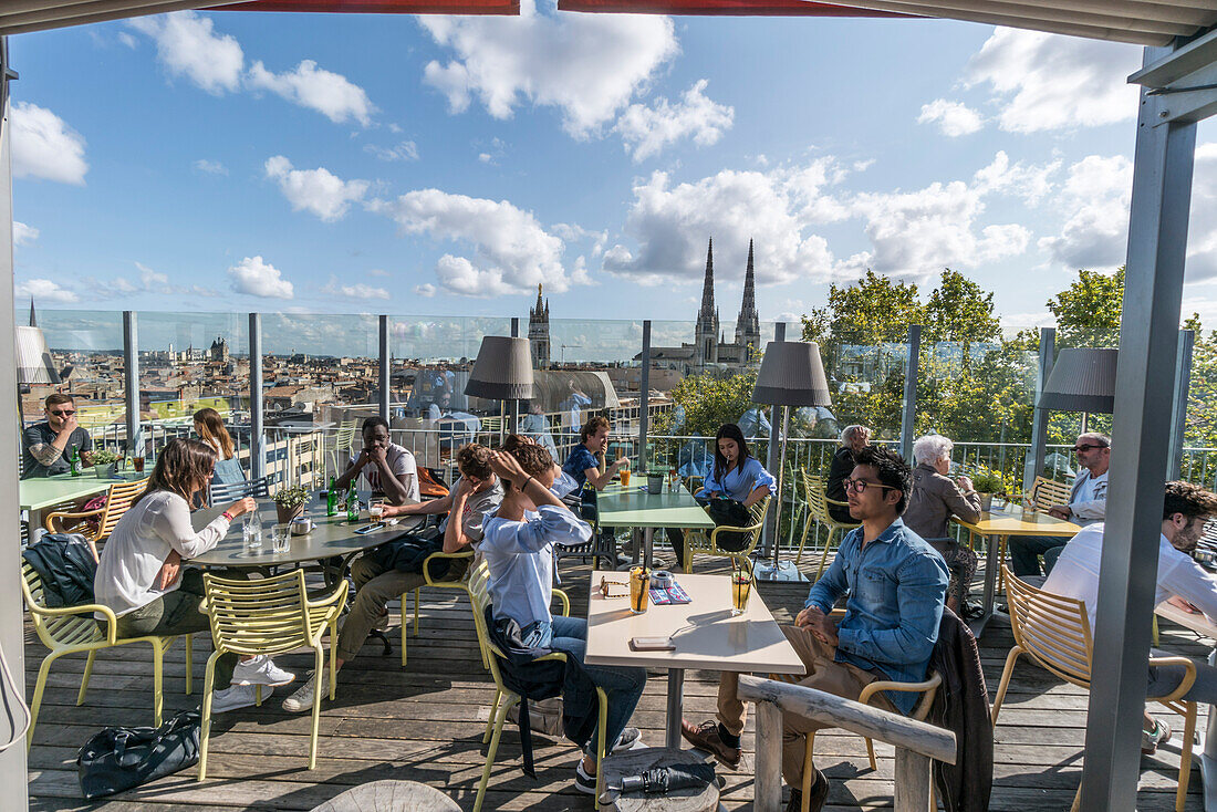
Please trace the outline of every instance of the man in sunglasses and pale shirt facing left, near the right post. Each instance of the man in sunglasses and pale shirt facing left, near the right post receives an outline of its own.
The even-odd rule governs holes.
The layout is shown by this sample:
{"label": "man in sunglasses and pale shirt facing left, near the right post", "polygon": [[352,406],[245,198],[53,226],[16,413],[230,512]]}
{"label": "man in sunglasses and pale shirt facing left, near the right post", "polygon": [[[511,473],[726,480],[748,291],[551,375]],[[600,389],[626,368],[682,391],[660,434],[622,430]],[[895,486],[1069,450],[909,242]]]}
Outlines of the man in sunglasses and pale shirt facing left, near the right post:
{"label": "man in sunglasses and pale shirt facing left, near the right post", "polygon": [[[1088,432],[1073,446],[1077,464],[1083,470],[1073,480],[1067,505],[1049,505],[1048,515],[1086,527],[1107,515],[1107,467],[1111,465],[1111,437]],[[1044,575],[1050,575],[1056,556],[1064,549],[1060,538],[1014,536],[1010,538],[1010,566],[1020,578],[1039,575],[1039,556],[1044,556]]]}

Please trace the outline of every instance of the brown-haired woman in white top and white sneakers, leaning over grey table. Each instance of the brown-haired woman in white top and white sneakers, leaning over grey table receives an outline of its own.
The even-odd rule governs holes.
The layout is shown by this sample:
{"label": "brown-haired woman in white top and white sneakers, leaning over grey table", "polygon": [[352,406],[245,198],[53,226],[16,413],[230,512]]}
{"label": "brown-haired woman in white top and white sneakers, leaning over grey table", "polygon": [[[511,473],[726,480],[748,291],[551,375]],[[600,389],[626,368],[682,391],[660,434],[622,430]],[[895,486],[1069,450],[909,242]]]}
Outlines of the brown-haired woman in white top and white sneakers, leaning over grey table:
{"label": "brown-haired woman in white top and white sneakers, leaning over grey table", "polygon": [[[185,634],[209,629],[198,611],[203,599],[200,570],[181,569],[214,548],[229,525],[256,508],[253,499],[234,502],[201,531],[190,522],[190,503],[207,488],[215,449],[197,439],[173,439],[157,458],[147,489],[131,504],[101,551],[94,594],[113,610],[118,637]],[[236,573],[221,573],[243,577]],[[225,655],[215,663],[215,682],[229,685],[214,694],[217,713],[254,704],[253,685],[286,685],[295,676],[267,656]]]}

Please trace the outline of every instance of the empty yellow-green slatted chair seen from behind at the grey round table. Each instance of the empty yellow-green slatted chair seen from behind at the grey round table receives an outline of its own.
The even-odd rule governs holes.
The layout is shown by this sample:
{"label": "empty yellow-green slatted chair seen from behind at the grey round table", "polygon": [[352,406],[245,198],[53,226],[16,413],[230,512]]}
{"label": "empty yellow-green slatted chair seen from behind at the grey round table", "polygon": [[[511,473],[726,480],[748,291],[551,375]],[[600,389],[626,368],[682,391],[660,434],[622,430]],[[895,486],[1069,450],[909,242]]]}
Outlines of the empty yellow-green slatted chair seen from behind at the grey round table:
{"label": "empty yellow-green slatted chair seen from behind at the grey round table", "polygon": [[[212,691],[215,687],[215,661],[225,653],[237,655],[274,655],[299,648],[314,654],[314,673],[320,679],[325,666],[321,637],[330,629],[330,699],[337,678],[333,646],[338,639],[337,621],[347,603],[347,582],[338,583],[319,600],[310,600],[304,587],[304,571],[292,570],[260,581],[230,581],[203,573],[206,597],[201,606],[212,622],[215,653],[207,660],[203,682],[202,737],[198,745],[198,780],[207,775],[207,741],[212,727]],[[260,688],[258,701],[262,701]],[[309,740],[308,768],[316,767],[316,732],[321,719],[321,691],[313,695],[313,729]]]}

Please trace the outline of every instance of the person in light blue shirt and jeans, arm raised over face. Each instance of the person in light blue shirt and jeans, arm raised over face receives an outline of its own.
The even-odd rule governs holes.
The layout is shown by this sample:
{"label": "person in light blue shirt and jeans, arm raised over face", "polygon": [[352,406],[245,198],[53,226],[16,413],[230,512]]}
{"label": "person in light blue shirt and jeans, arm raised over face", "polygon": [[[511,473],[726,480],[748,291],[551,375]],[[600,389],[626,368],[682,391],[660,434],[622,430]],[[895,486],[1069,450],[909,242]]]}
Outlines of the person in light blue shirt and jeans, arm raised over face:
{"label": "person in light blue shirt and jeans, arm raised over face", "polygon": [[[490,570],[495,625],[515,621],[525,645],[565,651],[583,662],[588,621],[554,616],[549,606],[554,595],[554,545],[587,543],[591,527],[550,491],[557,467],[542,446],[514,443],[510,452],[492,454],[490,469],[503,481],[504,498],[495,513],[487,514],[478,550]],[[646,670],[587,665],[583,670],[608,696],[605,741],[615,743],[611,749],[636,743],[638,730],[627,730],[626,723],[643,695]],[[596,741],[595,734],[591,741]],[[594,794],[595,775],[591,750],[584,752],[576,769],[576,789]]]}

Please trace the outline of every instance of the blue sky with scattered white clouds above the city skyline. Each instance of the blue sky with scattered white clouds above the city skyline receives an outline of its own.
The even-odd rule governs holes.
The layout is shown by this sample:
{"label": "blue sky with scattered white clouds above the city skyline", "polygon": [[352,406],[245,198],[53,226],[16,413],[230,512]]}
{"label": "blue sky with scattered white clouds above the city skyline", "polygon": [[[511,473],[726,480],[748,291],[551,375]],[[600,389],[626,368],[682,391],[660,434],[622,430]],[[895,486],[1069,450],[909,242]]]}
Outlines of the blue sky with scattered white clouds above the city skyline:
{"label": "blue sky with scattered white clouds above the city skyline", "polygon": [[[1133,46],[938,21],[213,12],[12,39],[41,307],[734,325],[944,265],[1045,321],[1122,262]],[[1217,326],[1202,129],[1187,310]],[[730,335],[728,336],[730,338]]]}

